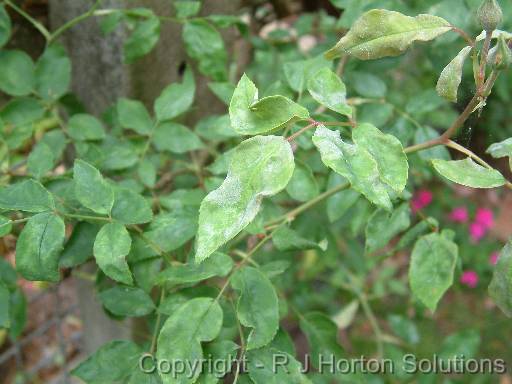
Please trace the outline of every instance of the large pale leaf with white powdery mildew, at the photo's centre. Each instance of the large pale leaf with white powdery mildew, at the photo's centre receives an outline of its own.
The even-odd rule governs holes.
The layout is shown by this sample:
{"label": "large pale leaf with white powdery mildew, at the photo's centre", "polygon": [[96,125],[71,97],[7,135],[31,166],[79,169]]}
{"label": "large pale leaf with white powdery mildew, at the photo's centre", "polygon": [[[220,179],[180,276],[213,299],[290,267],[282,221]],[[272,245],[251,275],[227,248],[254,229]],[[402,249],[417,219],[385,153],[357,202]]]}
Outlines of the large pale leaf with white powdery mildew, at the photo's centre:
{"label": "large pale leaf with white powdery mildew, at the photo's centre", "polygon": [[228,176],[201,203],[195,259],[203,261],[249,225],[262,199],[286,187],[294,167],[290,143],[281,136],[256,136],[238,145]]}

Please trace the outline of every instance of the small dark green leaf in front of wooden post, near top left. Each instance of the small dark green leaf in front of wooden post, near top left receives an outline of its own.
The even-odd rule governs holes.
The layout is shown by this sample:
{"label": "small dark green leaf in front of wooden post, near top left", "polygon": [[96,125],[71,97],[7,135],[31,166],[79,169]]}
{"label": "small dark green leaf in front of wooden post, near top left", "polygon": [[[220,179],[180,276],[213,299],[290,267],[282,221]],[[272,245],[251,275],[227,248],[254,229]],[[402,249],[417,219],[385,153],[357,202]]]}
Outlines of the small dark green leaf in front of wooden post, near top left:
{"label": "small dark green leaf in front of wooden post, near top left", "polygon": [[124,42],[124,61],[133,63],[155,47],[160,38],[160,19],[150,15],[137,21],[135,29]]}

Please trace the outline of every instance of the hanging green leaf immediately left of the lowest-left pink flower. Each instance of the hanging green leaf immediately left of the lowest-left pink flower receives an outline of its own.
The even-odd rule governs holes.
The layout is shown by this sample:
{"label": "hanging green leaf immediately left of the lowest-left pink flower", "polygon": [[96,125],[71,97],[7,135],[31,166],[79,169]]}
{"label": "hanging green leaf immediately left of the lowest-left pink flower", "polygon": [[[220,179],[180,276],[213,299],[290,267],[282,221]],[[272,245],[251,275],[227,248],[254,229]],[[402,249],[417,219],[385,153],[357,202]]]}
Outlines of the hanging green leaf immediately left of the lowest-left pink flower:
{"label": "hanging green leaf immediately left of the lowest-left pink flower", "polygon": [[458,248],[438,233],[421,237],[411,255],[409,283],[412,293],[431,311],[453,284]]}

